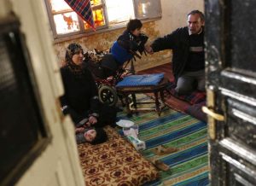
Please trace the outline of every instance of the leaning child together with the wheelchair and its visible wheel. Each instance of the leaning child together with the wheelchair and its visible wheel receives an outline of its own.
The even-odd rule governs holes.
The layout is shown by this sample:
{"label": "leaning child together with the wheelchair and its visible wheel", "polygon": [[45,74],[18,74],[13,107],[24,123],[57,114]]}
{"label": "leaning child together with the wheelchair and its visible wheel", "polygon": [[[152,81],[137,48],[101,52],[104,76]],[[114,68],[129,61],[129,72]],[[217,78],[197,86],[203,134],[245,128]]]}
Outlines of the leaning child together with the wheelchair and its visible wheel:
{"label": "leaning child together with the wheelchair and its visible wheel", "polygon": [[[89,53],[84,55],[85,64],[87,64],[98,85],[101,102],[108,103],[110,106],[115,105],[118,95],[114,86],[126,74],[125,67],[129,61],[133,62],[136,57],[140,59],[143,55],[144,45],[148,41],[148,37],[141,32],[142,27],[141,20],[130,20],[125,32],[113,43],[109,52],[96,50],[97,58],[92,57]],[[124,65],[125,62],[126,65]],[[132,68],[133,64],[131,64],[131,73],[133,73]]]}

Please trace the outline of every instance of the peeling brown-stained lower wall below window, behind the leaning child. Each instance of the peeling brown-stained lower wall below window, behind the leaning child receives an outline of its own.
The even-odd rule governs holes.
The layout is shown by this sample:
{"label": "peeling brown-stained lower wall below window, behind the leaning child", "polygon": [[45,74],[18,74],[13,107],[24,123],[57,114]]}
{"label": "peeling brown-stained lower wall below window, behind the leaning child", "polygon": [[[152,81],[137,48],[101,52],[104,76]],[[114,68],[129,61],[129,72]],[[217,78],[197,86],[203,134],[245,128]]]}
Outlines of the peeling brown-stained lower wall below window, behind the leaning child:
{"label": "peeling brown-stained lower wall below window, behind the leaning child", "polygon": [[[125,28],[122,28],[55,44],[55,53],[57,55],[59,65],[61,66],[61,63],[65,58],[65,52],[68,44],[79,43],[82,45],[85,52],[93,49],[107,50],[110,49],[113,42],[124,31]],[[149,37],[148,43],[152,42],[155,38],[158,38],[160,34],[156,28],[155,21],[143,23],[143,32]],[[170,62],[170,57],[171,51],[168,50],[157,52],[154,55],[143,55],[142,59],[137,59],[137,61],[135,61],[135,69],[138,71]]]}

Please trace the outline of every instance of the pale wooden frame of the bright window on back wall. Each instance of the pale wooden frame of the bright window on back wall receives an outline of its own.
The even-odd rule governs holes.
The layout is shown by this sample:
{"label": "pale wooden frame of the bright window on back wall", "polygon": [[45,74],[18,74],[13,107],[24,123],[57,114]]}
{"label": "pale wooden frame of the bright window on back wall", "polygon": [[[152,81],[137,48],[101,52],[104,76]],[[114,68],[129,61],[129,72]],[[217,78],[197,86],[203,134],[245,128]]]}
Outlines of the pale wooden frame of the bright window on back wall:
{"label": "pale wooden frame of the bright window on back wall", "polygon": [[[69,32],[69,33],[66,33],[66,34],[57,34],[56,28],[55,28],[55,21],[54,21],[53,16],[56,15],[56,14],[60,14],[60,13],[59,12],[55,13],[55,14],[52,13],[49,1],[50,0],[44,0],[44,2],[46,4],[46,9],[47,9],[47,12],[48,12],[48,17],[49,17],[49,23],[50,23],[50,27],[51,27],[51,30],[52,30],[52,33],[53,33],[53,38],[54,38],[55,43],[61,43],[61,42],[67,41],[67,40],[81,38],[81,37],[84,37],[84,36],[90,36],[90,35],[94,35],[94,34],[101,33],[101,32],[109,32],[109,31],[112,31],[112,30],[115,30],[115,29],[125,27],[126,23],[128,22],[128,20],[127,20],[127,21],[121,22],[119,24],[115,24],[114,26],[110,26],[109,21],[108,21],[108,10],[107,10],[107,6],[106,6],[106,2],[105,2],[106,0],[101,0],[102,3],[98,4],[98,5],[95,5],[95,6],[92,6],[92,9],[93,10],[95,10],[95,9],[102,9],[103,10],[104,20],[106,22],[106,25],[97,26],[96,31],[94,31],[92,28],[84,29],[84,20],[82,18],[80,18],[80,16],[78,15],[80,31],[78,31],[78,32]],[[159,15],[155,15],[153,17],[146,16],[145,18],[137,18],[138,17],[138,3],[139,3],[139,1],[132,0],[133,7],[134,7],[134,16],[135,16],[135,18],[137,18],[139,20],[142,20],[143,22],[151,21],[151,20],[159,20],[162,16],[160,0],[143,0],[143,1],[145,1],[145,2],[150,2],[150,1],[157,2],[158,7],[159,7]],[[74,11],[72,9],[70,11],[65,11],[65,13],[67,13],[67,12],[74,12]]]}

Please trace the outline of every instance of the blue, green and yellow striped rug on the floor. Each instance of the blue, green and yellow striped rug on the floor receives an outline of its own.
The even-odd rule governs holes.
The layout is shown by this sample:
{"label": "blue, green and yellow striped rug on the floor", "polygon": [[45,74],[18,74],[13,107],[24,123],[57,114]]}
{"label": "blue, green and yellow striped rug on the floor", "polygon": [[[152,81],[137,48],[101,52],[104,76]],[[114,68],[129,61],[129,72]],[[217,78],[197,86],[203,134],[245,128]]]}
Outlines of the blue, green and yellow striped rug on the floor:
{"label": "blue, green and yellow striped rug on the floor", "polygon": [[[139,125],[139,139],[146,142],[141,153],[147,159],[161,160],[170,171],[160,171],[160,179],[144,185],[208,185],[207,124],[170,108],[164,108],[160,117],[152,111],[133,114],[127,118]],[[120,133],[122,133],[120,131]],[[159,145],[177,148],[176,153],[156,155]]]}

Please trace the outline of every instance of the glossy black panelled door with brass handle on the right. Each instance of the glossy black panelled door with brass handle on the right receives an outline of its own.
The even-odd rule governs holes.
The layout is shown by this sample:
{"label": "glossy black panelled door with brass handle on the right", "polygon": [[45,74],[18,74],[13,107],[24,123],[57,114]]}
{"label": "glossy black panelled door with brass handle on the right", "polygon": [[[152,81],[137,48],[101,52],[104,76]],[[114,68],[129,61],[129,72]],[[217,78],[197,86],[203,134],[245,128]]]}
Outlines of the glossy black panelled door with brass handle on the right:
{"label": "glossy black panelled door with brass handle on the right", "polygon": [[256,1],[207,0],[212,185],[256,185]]}

